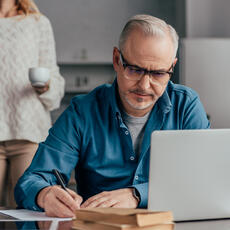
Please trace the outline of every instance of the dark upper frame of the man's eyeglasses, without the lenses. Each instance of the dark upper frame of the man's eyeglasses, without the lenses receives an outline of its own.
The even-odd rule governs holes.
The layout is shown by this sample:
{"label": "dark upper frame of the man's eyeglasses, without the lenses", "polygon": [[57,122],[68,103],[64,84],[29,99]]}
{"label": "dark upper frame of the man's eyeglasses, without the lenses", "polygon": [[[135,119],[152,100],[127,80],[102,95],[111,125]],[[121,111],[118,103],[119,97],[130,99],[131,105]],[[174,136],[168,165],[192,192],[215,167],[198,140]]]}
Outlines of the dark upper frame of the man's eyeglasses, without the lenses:
{"label": "dark upper frame of the man's eyeglasses, without the lenses", "polygon": [[[119,53],[120,53],[120,57],[121,57],[121,61],[122,61],[122,66],[123,66],[124,69],[126,69],[127,67],[133,67],[133,68],[136,68],[136,69],[139,69],[139,70],[143,71],[143,72],[144,72],[144,75],[147,74],[147,75],[149,75],[149,76],[154,75],[154,74],[168,74],[169,77],[171,77],[172,74],[174,73],[174,66],[173,66],[173,64],[170,66],[170,68],[169,68],[168,71],[147,70],[147,69],[141,68],[141,67],[139,67],[139,66],[137,66],[137,65],[131,65],[131,64],[129,64],[129,63],[125,60],[125,58],[124,58],[124,56],[123,56],[123,54],[122,54],[122,52],[121,52],[120,50],[119,50]],[[171,70],[171,69],[172,69],[172,70]],[[170,70],[171,70],[171,71],[170,71]],[[143,75],[143,76],[144,76],[144,75]]]}

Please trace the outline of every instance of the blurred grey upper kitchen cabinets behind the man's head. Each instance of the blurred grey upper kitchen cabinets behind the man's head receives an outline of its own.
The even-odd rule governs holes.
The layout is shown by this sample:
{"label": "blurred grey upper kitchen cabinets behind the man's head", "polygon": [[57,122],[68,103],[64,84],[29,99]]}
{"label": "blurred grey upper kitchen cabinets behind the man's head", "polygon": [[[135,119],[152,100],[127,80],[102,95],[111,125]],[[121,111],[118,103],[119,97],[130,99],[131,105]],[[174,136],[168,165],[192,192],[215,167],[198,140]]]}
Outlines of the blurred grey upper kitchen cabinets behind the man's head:
{"label": "blurred grey upper kitchen cabinets behind the man's head", "polygon": [[[151,14],[175,24],[174,1],[37,0],[53,25],[59,63],[112,63],[127,19]],[[170,20],[171,19],[171,20]]]}

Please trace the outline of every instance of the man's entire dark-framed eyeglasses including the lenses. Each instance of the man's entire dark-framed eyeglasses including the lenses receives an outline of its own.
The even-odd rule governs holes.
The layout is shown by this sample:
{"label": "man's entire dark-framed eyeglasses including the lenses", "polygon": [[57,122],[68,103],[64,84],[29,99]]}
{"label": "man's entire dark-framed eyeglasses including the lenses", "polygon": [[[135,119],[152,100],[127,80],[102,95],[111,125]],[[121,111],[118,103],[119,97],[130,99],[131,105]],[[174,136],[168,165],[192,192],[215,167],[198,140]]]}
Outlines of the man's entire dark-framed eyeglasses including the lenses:
{"label": "man's entire dark-framed eyeglasses including the lenses", "polygon": [[152,84],[158,83],[160,85],[165,85],[168,83],[169,78],[173,74],[173,67],[174,67],[173,64],[171,65],[171,67],[169,68],[168,71],[147,70],[144,68],[140,68],[139,66],[129,64],[125,60],[121,51],[119,51],[119,52],[120,52],[120,60],[121,60],[122,66],[124,68],[124,76],[128,80],[139,81],[143,76],[148,75],[149,81]]}

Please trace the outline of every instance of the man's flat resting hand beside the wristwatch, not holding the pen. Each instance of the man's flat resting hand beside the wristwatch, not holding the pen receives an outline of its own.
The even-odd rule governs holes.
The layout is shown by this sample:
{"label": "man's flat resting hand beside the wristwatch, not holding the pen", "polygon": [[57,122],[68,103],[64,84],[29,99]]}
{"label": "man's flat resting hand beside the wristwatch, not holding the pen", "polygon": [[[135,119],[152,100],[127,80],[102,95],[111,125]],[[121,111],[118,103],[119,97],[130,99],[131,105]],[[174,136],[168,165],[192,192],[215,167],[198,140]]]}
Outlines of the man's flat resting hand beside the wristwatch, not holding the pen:
{"label": "man's flat resting hand beside the wristwatch, not holding the pen", "polygon": [[81,208],[136,208],[138,200],[133,196],[133,188],[102,192],[86,200]]}

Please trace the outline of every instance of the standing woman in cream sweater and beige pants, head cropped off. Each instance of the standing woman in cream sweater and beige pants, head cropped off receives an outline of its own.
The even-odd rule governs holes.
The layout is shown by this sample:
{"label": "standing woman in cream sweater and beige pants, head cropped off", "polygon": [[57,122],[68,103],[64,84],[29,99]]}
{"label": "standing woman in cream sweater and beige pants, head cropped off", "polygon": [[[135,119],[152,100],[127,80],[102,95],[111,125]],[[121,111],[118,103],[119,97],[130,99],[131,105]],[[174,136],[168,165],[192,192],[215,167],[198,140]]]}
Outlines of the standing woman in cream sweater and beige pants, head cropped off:
{"label": "standing woman in cream sweater and beige pants, head cropped off", "polygon": [[[30,67],[49,69],[44,87],[31,86]],[[50,111],[63,95],[49,20],[32,0],[0,0],[0,206],[15,207],[14,186],[45,140]]]}

